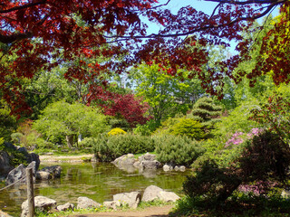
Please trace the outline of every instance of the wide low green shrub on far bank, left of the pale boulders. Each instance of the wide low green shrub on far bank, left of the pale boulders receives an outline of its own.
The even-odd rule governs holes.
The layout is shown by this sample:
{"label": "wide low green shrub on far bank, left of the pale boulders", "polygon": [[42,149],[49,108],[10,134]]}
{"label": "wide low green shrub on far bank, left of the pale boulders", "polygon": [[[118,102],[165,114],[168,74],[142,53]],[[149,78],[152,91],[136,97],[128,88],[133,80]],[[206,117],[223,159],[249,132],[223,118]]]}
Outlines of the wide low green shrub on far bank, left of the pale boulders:
{"label": "wide low green shrub on far bank, left of the pale boulders", "polygon": [[121,134],[114,137],[99,136],[94,152],[100,160],[108,162],[126,154],[140,154],[152,152],[155,149],[154,141],[150,137],[140,135]]}

